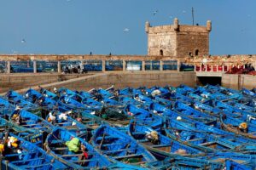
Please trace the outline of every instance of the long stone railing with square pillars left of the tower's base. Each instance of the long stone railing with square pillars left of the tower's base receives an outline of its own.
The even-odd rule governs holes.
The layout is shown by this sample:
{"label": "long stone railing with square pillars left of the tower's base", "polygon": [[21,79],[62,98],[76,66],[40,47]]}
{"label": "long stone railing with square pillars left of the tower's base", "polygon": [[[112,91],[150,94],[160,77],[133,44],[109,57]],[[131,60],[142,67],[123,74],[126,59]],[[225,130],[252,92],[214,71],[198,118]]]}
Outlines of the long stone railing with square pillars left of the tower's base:
{"label": "long stone railing with square pillars left of the tower's base", "polygon": [[137,55],[1,55],[0,72],[58,72],[67,65],[86,71],[179,71],[180,59]]}

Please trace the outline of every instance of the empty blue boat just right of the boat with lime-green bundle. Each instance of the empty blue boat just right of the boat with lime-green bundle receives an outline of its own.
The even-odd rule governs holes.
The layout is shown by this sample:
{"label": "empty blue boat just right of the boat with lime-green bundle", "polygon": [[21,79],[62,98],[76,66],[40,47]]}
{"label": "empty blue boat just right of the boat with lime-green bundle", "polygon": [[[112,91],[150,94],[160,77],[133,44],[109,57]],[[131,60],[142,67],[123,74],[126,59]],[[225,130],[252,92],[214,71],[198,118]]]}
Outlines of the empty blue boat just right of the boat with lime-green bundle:
{"label": "empty blue boat just right of the boat with lime-green bundle", "polygon": [[146,162],[156,161],[154,156],[131,136],[108,125],[102,125],[96,129],[91,144],[101,150],[102,154],[116,161],[140,166]]}

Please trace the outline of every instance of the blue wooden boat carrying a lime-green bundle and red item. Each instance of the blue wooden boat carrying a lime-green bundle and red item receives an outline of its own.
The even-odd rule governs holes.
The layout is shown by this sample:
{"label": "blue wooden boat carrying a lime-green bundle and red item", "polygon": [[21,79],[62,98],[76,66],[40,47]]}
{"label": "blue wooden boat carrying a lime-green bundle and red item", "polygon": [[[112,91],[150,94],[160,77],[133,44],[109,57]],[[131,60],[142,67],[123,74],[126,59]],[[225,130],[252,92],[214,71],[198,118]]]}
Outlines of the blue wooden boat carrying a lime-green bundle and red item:
{"label": "blue wooden boat carrying a lime-green bundle and red item", "polygon": [[49,133],[44,147],[49,155],[74,169],[106,168],[112,164],[84,139],[61,127]]}

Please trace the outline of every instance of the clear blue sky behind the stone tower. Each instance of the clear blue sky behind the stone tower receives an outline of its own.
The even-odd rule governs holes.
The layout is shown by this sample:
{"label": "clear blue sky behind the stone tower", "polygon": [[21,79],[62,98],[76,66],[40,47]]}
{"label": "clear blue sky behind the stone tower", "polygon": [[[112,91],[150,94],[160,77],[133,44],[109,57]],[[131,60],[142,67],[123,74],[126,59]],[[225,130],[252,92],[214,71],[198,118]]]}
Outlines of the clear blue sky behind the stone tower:
{"label": "clear blue sky behind the stone tower", "polygon": [[147,54],[145,21],[190,25],[192,7],[195,23],[212,20],[210,54],[256,54],[255,0],[0,2],[0,54]]}

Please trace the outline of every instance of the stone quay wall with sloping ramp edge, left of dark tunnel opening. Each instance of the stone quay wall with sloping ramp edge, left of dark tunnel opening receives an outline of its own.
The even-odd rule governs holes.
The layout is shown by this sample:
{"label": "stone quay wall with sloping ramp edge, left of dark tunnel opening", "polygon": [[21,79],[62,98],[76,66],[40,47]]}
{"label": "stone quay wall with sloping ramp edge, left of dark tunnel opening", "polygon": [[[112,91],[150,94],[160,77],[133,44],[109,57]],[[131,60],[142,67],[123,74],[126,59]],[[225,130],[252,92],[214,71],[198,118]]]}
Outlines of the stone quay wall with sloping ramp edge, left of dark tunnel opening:
{"label": "stone quay wall with sloping ramp edge, left of dark tunnel opening", "polygon": [[[114,85],[116,88],[140,86],[178,86],[187,84],[195,87],[195,72],[177,72],[177,71],[128,71],[128,72],[105,72],[98,73],[89,77],[79,77],[65,82],[55,82],[52,84],[42,85],[44,88],[61,88],[66,87],[77,90],[90,90],[91,88],[109,88]],[[32,87],[38,88],[38,87]],[[24,93],[27,89],[19,90]]]}

